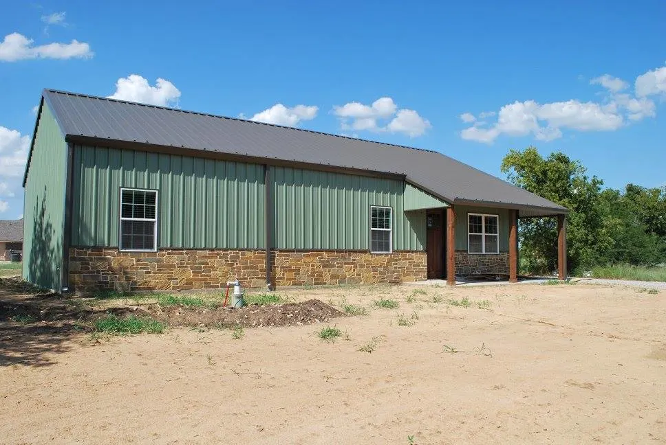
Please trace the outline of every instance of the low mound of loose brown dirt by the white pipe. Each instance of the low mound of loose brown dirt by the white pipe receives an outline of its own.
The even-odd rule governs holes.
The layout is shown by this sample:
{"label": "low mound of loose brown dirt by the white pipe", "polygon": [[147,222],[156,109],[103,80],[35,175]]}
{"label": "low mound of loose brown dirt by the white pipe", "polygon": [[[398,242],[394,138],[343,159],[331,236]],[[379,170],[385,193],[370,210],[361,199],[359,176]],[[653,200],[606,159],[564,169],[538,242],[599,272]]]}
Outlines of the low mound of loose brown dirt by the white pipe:
{"label": "low mound of loose brown dirt by the white pipe", "polygon": [[157,305],[147,308],[155,319],[166,321],[169,326],[206,326],[218,328],[257,328],[272,326],[301,326],[329,321],[344,314],[318,299],[301,303],[245,306],[243,308],[184,308]]}

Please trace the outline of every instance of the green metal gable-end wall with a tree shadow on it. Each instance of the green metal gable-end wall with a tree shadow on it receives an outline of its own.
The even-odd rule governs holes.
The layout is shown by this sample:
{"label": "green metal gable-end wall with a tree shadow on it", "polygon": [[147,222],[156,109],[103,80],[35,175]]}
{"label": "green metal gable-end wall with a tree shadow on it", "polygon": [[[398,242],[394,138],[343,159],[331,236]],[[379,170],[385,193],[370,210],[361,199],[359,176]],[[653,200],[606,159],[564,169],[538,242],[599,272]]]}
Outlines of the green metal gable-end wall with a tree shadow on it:
{"label": "green metal gable-end wall with a tree shadow on it", "polygon": [[62,289],[67,144],[46,104],[39,115],[23,201],[23,278]]}

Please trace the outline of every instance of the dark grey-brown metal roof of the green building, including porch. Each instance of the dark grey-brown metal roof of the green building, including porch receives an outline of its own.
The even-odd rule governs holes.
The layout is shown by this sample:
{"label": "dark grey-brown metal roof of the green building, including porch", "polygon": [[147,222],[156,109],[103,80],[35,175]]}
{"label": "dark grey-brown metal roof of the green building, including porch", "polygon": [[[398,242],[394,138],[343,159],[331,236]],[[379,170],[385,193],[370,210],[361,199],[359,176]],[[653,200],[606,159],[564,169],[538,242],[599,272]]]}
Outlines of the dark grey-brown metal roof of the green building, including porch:
{"label": "dark grey-brown metal roof of the green building, including porch", "polygon": [[440,152],[50,89],[44,90],[43,99],[68,142],[122,141],[399,174],[454,205],[515,208],[519,216],[567,212]]}

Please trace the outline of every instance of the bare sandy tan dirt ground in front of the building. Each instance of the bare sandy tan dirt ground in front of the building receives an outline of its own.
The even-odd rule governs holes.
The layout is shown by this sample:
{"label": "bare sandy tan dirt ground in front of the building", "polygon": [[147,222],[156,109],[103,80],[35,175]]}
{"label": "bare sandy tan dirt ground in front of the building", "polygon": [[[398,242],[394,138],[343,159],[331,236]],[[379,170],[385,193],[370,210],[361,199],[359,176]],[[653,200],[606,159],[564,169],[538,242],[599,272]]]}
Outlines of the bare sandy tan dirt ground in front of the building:
{"label": "bare sandy tan dirt ground in front of the building", "polygon": [[[205,327],[100,337],[0,319],[0,443],[666,442],[664,291],[281,293],[367,315],[246,328],[241,339]],[[465,297],[469,307],[456,306]],[[380,298],[400,306],[378,308]],[[346,335],[322,341],[325,326]]]}

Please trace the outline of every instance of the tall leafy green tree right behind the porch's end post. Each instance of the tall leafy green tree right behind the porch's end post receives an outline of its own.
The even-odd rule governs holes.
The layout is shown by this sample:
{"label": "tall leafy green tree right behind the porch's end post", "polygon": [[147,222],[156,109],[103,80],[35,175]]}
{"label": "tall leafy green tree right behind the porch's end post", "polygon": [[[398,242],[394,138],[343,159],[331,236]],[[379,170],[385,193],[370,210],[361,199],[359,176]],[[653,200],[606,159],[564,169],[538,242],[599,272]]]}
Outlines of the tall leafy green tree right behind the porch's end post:
{"label": "tall leafy green tree right behind the porch's end post", "polygon": [[[616,221],[607,218],[608,203],[601,200],[603,181],[588,177],[579,161],[561,152],[541,157],[537,148],[511,150],[502,160],[502,172],[515,185],[567,207],[568,269],[599,264],[614,244]],[[557,268],[555,218],[522,219],[519,224],[521,254],[528,271],[548,273]]]}

